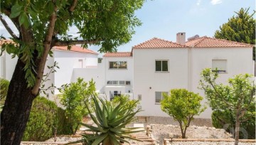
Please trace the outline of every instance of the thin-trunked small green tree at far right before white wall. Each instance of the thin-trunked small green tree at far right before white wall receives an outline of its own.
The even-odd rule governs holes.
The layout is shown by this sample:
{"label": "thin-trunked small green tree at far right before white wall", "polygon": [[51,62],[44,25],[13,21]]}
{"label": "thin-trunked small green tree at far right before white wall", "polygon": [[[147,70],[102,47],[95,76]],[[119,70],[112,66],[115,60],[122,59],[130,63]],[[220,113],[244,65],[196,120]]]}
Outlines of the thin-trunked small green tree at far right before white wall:
{"label": "thin-trunked small green tree at far right before white wall", "polygon": [[200,86],[213,111],[231,110],[235,114],[235,145],[238,145],[240,124],[255,116],[255,111],[248,111],[255,106],[255,84],[249,74],[230,78],[229,85],[216,83],[217,78],[217,72],[204,69]]}

